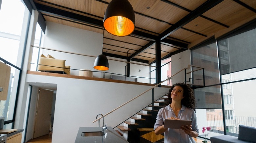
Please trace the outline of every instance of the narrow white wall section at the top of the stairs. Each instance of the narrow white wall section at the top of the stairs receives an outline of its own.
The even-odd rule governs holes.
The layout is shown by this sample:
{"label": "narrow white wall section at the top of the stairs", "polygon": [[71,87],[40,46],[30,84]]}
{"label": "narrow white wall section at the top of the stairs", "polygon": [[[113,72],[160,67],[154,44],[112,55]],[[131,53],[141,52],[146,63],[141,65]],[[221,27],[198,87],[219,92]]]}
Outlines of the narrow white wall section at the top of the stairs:
{"label": "narrow white wall section at the top of the stairs", "polygon": [[[190,57],[190,50],[186,50],[184,52],[181,52],[179,54],[173,55],[171,56],[172,58],[172,75],[176,74],[177,72],[179,72],[180,70],[182,70],[183,68],[187,68],[188,65],[191,64],[191,57]],[[190,70],[187,70],[190,71]],[[191,78],[191,74],[187,74],[187,81],[188,79]],[[176,84],[179,82],[184,82],[184,71],[181,71],[179,74],[175,75],[172,78],[172,84]],[[191,84],[189,82],[187,82],[187,84]]]}

